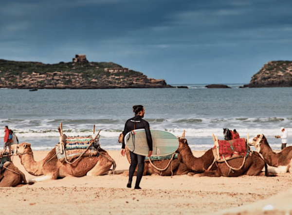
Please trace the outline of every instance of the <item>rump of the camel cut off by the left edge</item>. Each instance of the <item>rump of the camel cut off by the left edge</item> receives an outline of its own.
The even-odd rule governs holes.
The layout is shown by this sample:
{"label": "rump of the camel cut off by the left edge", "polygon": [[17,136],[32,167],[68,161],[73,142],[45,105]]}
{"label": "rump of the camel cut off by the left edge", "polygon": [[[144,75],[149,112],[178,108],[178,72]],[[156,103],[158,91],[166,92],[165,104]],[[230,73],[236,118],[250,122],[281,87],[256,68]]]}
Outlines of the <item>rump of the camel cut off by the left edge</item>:
{"label": "rump of the camel cut off by the left edge", "polygon": [[0,187],[19,187],[27,184],[24,174],[10,161],[0,171]]}

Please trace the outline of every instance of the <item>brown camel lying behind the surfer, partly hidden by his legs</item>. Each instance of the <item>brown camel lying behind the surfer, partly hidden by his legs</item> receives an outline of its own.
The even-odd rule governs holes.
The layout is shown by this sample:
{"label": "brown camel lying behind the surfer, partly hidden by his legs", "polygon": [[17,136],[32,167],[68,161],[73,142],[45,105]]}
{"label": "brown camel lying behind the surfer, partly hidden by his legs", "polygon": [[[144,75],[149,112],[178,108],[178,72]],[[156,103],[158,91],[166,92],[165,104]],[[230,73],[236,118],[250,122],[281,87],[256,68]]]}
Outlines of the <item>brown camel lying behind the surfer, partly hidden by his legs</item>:
{"label": "brown camel lying behind the surfer, partly hidden by his legs", "polygon": [[[127,156],[129,163],[131,163],[130,151],[129,151],[127,146],[126,146],[126,156]],[[153,167],[149,161],[145,162],[143,176],[146,176],[146,175],[179,176],[179,175],[186,175],[192,171],[190,168],[186,167],[186,165],[182,162],[182,159],[180,159],[180,157],[178,157],[178,159],[173,159],[172,161],[171,161],[171,159],[154,160],[154,161],[152,161],[152,163],[156,168]],[[135,176],[137,174],[137,168],[136,168],[136,171],[134,174]],[[163,171],[161,171],[161,170],[163,170]],[[125,171],[124,175],[128,176],[128,171]]]}

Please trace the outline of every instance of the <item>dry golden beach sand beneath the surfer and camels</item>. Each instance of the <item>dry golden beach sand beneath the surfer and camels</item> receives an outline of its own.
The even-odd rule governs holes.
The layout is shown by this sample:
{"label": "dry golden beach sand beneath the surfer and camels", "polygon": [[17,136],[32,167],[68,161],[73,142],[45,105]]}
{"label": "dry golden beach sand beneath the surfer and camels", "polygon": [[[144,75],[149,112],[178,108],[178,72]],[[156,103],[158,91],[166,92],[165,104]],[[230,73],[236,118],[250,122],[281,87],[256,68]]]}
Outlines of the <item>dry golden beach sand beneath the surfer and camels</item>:
{"label": "dry golden beach sand beneath the surfer and camels", "polygon": [[[35,151],[41,160],[48,151]],[[194,151],[201,156],[203,151]],[[128,169],[126,157],[109,151],[116,170]],[[28,174],[17,156],[14,164]],[[134,177],[134,181],[135,181]],[[292,215],[292,174],[276,177],[144,176],[142,190],[126,188],[122,175],[66,177],[19,188],[0,188],[1,214],[26,215]],[[273,210],[263,210],[273,209]]]}

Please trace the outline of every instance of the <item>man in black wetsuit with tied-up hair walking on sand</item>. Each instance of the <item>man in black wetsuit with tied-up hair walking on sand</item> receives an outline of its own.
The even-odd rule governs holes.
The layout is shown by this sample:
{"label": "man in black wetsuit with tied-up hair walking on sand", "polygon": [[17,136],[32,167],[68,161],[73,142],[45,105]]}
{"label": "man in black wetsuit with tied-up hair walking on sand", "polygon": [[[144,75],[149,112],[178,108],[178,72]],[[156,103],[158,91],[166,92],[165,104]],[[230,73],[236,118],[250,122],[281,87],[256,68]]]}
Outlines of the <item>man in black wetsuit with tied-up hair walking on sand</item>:
{"label": "man in black wetsuit with tied-up hair walking on sand", "polygon": [[[150,126],[149,123],[143,119],[145,115],[145,109],[142,105],[134,105],[133,106],[133,112],[135,113],[135,117],[130,118],[127,120],[125,124],[125,128],[123,131],[124,137],[128,134],[128,132],[135,130],[135,129],[145,129],[146,131],[146,138],[147,138],[147,144],[149,147],[149,154],[148,157],[152,155],[152,137],[150,133]],[[121,154],[122,156],[125,156],[125,140],[123,138],[122,142],[122,151]],[[132,187],[132,179],[136,170],[136,167],[138,165],[138,171],[137,171],[137,179],[136,179],[136,184],[134,189],[141,189],[140,187],[140,182],[143,176],[144,172],[144,162],[145,162],[145,156],[137,155],[134,152],[130,152],[130,158],[131,158],[131,164],[129,167],[129,180],[127,187],[131,188]]]}

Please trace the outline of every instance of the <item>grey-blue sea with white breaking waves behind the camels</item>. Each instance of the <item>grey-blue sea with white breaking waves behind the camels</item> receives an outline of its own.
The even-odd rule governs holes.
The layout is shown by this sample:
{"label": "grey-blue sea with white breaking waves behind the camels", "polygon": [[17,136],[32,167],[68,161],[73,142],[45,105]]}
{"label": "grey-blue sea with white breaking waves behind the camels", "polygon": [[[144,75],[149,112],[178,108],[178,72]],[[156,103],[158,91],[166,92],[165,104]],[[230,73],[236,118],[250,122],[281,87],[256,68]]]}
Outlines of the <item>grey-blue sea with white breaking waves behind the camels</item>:
{"label": "grey-blue sea with white breaking waves behind the camels", "polygon": [[[279,150],[280,127],[292,135],[292,88],[207,89],[207,84],[186,84],[189,89],[92,89],[34,92],[0,89],[0,138],[4,126],[29,142],[33,150],[50,150],[59,140],[57,127],[63,123],[67,136],[91,135],[93,125],[100,132],[101,147],[120,150],[117,142],[132,106],[145,107],[151,129],[185,138],[192,150],[214,146],[212,134],[223,139],[223,128],[236,129],[240,137],[264,134],[270,146]],[[180,85],[181,86],[181,85]],[[290,138],[291,139],[291,138]],[[288,139],[288,145],[292,145]],[[2,147],[2,146],[1,146]],[[252,148],[254,149],[254,148]]]}

